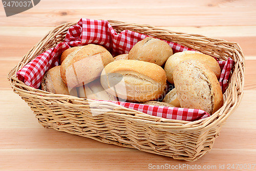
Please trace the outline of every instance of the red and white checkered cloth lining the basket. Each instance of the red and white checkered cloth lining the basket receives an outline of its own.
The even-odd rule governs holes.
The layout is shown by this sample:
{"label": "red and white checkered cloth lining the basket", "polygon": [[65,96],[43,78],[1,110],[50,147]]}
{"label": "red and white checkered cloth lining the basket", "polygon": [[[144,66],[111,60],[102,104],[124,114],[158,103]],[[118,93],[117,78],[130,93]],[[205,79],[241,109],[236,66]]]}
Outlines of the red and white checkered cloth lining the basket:
{"label": "red and white checkered cloth lining the basket", "polygon": [[[77,25],[70,27],[63,42],[57,44],[46,52],[40,54],[17,72],[17,78],[26,85],[39,88],[42,77],[50,68],[59,65],[60,55],[63,51],[73,46],[86,45],[89,43],[104,46],[113,56],[127,54],[138,41],[147,37],[146,35],[124,30],[117,34],[107,20],[92,20],[81,18]],[[165,40],[164,40],[165,41]],[[173,52],[193,51],[191,48],[180,44],[166,41]],[[220,84],[224,92],[228,86],[228,78],[233,65],[233,60],[218,61],[222,74]],[[120,102],[113,102],[120,103]],[[196,120],[209,116],[208,113],[197,109],[171,108],[121,102],[119,105],[136,109],[147,114],[164,118],[180,120]],[[196,117],[195,117],[196,116]]]}

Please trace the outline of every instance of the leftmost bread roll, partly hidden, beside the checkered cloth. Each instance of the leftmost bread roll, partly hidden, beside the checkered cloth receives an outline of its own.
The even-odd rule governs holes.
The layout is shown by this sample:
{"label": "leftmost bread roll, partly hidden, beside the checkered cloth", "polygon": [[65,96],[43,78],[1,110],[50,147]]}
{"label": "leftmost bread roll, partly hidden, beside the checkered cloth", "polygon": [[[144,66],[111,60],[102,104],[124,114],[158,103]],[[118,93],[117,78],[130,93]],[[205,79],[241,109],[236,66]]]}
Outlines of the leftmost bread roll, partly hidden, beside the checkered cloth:
{"label": "leftmost bread roll, partly hidden, beside the checkered cloth", "polygon": [[55,66],[46,72],[42,78],[41,86],[44,91],[69,95],[69,89],[60,77],[60,66]]}

